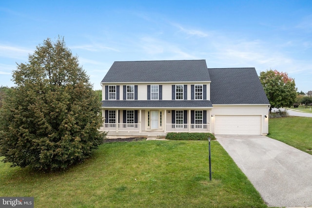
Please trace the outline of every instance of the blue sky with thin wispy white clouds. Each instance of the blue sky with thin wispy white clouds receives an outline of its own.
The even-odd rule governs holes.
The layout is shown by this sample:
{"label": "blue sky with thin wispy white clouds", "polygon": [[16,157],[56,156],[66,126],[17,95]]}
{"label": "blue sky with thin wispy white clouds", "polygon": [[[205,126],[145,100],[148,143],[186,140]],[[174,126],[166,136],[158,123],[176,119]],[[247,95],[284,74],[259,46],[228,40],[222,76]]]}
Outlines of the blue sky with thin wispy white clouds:
{"label": "blue sky with thin wispy white clouds", "polygon": [[94,89],[114,61],[205,59],[287,72],[312,90],[311,0],[2,0],[0,28],[2,86],[43,40],[63,36]]}

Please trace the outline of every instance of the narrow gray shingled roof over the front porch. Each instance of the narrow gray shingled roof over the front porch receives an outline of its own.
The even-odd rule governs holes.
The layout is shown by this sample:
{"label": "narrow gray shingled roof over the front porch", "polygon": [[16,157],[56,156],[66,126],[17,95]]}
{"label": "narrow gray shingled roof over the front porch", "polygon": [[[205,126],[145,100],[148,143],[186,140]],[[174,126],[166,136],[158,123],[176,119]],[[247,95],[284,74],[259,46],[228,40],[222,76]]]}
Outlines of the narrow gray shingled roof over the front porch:
{"label": "narrow gray shingled roof over the front porch", "polygon": [[182,101],[102,101],[104,108],[213,108],[208,100],[182,100]]}

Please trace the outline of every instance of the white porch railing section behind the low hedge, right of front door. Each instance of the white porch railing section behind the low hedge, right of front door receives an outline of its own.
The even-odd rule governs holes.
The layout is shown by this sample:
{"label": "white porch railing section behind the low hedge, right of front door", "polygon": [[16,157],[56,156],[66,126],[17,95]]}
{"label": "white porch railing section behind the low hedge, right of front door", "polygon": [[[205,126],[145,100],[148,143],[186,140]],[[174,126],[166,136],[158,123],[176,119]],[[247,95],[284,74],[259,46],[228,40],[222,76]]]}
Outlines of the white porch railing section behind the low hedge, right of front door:
{"label": "white porch railing section behind the low hedge, right of front door", "polygon": [[166,124],[167,132],[209,132],[209,124]]}

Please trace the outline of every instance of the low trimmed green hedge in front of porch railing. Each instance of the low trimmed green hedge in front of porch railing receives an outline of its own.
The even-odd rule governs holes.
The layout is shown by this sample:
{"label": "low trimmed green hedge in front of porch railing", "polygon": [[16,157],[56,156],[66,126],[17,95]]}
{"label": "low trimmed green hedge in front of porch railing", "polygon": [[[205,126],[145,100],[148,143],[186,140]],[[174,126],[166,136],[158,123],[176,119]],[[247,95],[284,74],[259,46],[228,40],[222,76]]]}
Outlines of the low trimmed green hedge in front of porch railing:
{"label": "low trimmed green hedge in front of porch railing", "polygon": [[215,140],[215,135],[212,133],[187,133],[187,132],[170,132],[167,134],[166,139],[168,140],[208,140],[210,137]]}

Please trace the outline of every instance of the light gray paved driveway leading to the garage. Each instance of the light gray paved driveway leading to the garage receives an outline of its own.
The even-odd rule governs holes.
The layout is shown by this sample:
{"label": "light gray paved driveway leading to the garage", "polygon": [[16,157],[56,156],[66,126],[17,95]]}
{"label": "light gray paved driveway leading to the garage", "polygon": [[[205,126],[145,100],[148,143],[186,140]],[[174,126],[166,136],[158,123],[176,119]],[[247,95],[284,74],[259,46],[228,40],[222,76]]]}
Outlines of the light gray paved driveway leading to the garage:
{"label": "light gray paved driveway leading to the garage", "polygon": [[265,136],[215,137],[269,207],[312,206],[312,155]]}

